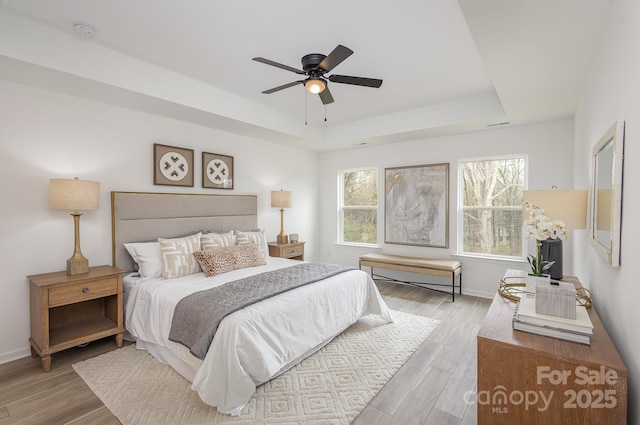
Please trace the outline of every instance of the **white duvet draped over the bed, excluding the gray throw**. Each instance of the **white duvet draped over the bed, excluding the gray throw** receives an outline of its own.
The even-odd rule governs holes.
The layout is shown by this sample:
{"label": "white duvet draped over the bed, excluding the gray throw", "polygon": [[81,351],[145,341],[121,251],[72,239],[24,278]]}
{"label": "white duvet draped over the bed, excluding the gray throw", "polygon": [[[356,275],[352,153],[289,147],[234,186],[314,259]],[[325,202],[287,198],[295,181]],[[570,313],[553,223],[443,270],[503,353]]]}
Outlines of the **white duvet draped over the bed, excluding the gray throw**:
{"label": "white duvet draped over the bed, excluding the gray throw", "polygon": [[170,364],[222,413],[238,415],[256,386],[284,372],[367,314],[391,322],[371,277],[353,270],[261,301],[227,316],[204,360],[169,341],[175,305],[183,297],[252,274],[296,264],[267,258],[265,266],[206,278],[125,280],[125,324],[138,348]]}

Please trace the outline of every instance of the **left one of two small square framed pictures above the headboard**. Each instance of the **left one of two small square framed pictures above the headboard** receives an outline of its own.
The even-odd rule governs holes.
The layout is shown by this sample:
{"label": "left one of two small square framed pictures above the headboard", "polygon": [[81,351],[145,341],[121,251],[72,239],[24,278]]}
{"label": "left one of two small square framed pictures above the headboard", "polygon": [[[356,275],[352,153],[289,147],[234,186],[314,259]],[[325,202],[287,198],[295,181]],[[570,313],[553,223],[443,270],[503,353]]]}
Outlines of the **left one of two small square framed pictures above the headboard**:
{"label": "left one of two small square framed pictures above the headboard", "polygon": [[193,149],[154,143],[153,184],[193,187]]}

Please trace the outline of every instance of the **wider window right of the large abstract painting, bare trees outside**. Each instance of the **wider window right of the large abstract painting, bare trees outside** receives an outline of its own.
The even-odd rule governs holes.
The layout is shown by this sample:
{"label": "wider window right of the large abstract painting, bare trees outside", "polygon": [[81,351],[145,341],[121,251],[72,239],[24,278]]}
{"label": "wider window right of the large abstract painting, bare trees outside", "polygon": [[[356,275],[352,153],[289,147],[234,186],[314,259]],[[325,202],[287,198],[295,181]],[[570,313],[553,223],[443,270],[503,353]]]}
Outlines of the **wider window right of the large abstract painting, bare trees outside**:
{"label": "wider window right of the large abstract painting, bare trees outside", "polygon": [[464,160],[459,171],[458,251],[521,258],[526,158]]}

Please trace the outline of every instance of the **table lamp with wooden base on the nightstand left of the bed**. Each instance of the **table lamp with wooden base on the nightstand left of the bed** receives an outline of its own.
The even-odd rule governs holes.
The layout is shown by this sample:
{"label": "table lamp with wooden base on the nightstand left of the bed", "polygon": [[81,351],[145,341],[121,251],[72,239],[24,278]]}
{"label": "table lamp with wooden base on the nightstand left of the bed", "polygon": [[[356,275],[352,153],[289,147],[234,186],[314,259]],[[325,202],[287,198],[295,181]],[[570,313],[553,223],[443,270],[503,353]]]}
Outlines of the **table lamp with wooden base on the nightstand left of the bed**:
{"label": "table lamp with wooden base on the nightstand left of the bed", "polygon": [[67,260],[67,274],[89,272],[89,260],[80,251],[80,210],[97,210],[100,206],[100,183],[69,179],[51,179],[49,183],[49,206],[54,209],[73,210],[75,246],[73,255]]}

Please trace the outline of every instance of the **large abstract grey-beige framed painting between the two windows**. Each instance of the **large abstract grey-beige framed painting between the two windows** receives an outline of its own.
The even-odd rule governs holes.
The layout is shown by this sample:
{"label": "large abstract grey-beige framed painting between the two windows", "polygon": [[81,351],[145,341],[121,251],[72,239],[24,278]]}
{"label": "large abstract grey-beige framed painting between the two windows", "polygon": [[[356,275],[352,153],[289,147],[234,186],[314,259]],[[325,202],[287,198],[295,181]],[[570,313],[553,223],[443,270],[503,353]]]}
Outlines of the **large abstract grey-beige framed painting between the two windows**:
{"label": "large abstract grey-beige framed painting between the two windows", "polygon": [[385,168],[385,243],[449,247],[449,163]]}

